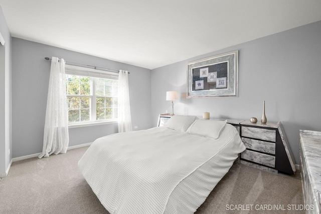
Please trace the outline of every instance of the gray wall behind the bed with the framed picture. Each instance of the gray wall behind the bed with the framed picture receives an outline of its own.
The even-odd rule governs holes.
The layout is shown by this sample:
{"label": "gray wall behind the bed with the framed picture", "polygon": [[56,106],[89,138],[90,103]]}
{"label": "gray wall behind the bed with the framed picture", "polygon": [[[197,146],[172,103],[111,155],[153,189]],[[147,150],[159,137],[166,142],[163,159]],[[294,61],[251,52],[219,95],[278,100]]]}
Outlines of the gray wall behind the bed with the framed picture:
{"label": "gray wall behind the bed with the framed picture", "polygon": [[[237,36],[237,32],[236,35]],[[187,63],[239,50],[239,97],[186,98]],[[281,121],[299,163],[299,129],[321,131],[321,21],[151,71],[151,118],[172,112],[166,91],[178,91],[176,114]]]}

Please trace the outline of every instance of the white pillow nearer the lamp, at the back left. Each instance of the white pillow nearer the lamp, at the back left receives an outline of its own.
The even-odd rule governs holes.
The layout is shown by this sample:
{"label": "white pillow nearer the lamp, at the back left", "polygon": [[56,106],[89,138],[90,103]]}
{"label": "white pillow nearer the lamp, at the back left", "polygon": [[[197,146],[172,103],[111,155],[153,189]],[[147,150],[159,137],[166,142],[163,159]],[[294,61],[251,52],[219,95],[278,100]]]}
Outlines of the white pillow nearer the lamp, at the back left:
{"label": "white pillow nearer the lamp, at the back left", "polygon": [[164,126],[177,131],[186,132],[196,118],[196,116],[174,115],[164,124]]}

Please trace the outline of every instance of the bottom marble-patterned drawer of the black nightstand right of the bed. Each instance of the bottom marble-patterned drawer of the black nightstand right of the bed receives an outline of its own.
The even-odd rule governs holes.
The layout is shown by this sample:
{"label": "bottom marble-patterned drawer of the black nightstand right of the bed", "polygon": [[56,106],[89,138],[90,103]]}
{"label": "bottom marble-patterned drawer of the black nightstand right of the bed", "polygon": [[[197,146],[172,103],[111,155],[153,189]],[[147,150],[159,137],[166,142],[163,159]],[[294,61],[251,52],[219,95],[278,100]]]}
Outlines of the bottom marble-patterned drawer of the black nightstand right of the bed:
{"label": "bottom marble-patterned drawer of the black nightstand right of the bed", "polygon": [[273,168],[275,167],[275,157],[268,154],[245,150],[241,153],[241,158]]}

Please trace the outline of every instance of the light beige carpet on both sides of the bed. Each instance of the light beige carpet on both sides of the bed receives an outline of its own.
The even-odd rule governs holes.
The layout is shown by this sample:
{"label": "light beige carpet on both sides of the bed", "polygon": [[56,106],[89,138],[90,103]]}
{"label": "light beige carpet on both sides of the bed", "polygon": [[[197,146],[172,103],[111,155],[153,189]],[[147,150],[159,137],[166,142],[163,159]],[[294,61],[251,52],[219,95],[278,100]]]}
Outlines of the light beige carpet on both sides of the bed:
{"label": "light beige carpet on both sides of the bed", "polygon": [[[78,170],[87,148],[14,162],[8,177],[0,180],[0,213],[108,213]],[[231,204],[253,204],[253,209],[227,210]],[[196,213],[304,213],[255,210],[256,204],[283,204],[285,209],[303,204],[300,177],[236,163]]]}

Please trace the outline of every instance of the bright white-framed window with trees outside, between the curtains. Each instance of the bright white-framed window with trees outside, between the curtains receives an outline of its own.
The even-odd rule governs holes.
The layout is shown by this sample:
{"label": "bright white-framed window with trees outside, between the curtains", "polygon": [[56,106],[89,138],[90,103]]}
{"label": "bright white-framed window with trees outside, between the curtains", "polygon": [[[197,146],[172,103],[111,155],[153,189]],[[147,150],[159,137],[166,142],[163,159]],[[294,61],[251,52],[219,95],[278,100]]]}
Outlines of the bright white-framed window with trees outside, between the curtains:
{"label": "bright white-framed window with trees outside, between the curtains", "polygon": [[117,73],[70,65],[65,71],[69,124],[117,118]]}

